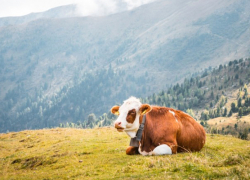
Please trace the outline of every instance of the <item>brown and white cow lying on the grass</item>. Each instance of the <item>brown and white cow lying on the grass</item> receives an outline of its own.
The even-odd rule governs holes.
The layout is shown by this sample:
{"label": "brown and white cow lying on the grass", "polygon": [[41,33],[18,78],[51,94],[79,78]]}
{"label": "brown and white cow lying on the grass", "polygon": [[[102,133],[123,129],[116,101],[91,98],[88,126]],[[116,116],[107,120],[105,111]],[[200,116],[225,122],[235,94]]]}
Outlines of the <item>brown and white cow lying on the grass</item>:
{"label": "brown and white cow lying on the grass", "polygon": [[125,131],[131,138],[136,137],[143,115],[146,115],[139,147],[129,146],[128,155],[200,151],[206,141],[203,127],[179,110],[142,104],[139,99],[131,97],[122,106],[112,107],[111,112],[119,115],[115,128],[119,132]]}

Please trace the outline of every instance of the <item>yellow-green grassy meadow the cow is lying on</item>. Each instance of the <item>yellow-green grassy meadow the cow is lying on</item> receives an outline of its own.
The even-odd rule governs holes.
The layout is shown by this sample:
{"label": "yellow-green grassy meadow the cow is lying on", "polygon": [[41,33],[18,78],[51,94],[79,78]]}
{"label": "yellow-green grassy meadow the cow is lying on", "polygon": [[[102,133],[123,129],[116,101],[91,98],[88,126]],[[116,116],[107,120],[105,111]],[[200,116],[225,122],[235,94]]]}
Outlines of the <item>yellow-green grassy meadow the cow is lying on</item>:
{"label": "yellow-green grassy meadow the cow is lying on", "polygon": [[113,128],[0,135],[0,179],[250,179],[250,142],[207,135],[201,152],[127,156]]}

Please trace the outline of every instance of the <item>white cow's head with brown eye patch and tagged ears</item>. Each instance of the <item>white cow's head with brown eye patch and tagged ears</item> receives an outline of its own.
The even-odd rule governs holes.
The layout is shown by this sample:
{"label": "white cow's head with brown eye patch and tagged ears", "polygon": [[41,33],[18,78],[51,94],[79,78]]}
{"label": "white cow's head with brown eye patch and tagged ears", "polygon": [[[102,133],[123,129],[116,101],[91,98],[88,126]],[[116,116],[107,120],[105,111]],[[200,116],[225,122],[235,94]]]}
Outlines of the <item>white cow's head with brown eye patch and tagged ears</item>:
{"label": "white cow's head with brown eye patch and tagged ears", "polygon": [[140,100],[131,97],[124,101],[121,106],[114,106],[111,112],[118,115],[115,121],[115,128],[119,131],[125,131],[131,138],[136,136],[139,129],[139,117],[151,111],[151,106],[148,104],[141,104]]}

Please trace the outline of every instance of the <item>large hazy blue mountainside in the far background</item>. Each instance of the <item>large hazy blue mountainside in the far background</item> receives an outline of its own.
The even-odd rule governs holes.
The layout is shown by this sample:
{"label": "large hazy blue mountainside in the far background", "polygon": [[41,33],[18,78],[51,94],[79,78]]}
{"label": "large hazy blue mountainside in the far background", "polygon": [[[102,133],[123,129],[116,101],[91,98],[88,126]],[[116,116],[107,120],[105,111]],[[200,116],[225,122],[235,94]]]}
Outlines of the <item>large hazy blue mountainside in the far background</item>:
{"label": "large hazy blue mountainside in the far background", "polygon": [[100,115],[250,54],[248,0],[159,0],[101,17],[65,8],[0,19],[1,131]]}

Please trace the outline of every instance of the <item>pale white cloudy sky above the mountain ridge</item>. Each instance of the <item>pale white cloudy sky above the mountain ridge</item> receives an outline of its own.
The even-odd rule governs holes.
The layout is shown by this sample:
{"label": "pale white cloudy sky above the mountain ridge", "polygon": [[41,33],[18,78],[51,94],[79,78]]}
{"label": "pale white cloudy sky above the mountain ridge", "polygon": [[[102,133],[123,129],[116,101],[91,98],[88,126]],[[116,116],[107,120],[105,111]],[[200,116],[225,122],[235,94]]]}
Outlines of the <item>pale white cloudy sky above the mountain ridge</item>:
{"label": "pale white cloudy sky above the mountain ridge", "polygon": [[0,17],[22,16],[31,12],[42,12],[53,7],[78,4],[82,15],[100,15],[98,12],[117,11],[117,2],[124,2],[126,9],[133,9],[155,0],[0,0]]}

